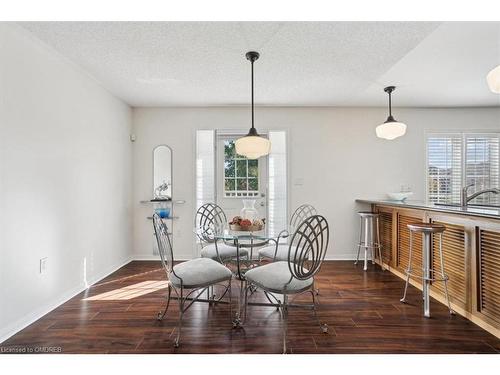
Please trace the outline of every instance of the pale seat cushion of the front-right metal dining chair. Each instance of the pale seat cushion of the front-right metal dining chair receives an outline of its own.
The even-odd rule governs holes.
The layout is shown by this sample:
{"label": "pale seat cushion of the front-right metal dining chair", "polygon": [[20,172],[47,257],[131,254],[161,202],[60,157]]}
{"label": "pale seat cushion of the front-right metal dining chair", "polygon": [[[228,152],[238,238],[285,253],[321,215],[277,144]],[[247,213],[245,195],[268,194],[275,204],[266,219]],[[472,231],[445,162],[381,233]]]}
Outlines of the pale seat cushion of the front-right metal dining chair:
{"label": "pale seat cushion of the front-right metal dining chair", "polygon": [[[245,278],[259,288],[279,294],[298,293],[311,287],[313,278],[298,280],[292,274],[288,262],[273,262],[255,267],[245,273]],[[288,281],[290,283],[288,284]],[[286,285],[286,290],[285,290]]]}

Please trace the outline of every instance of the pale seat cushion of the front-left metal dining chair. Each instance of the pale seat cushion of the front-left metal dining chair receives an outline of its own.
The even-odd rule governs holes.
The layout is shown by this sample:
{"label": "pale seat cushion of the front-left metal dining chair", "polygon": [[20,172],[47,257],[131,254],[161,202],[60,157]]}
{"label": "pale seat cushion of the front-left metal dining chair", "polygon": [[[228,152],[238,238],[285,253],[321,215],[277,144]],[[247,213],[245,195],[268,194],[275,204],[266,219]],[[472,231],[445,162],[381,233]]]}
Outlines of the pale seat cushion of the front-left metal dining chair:
{"label": "pale seat cushion of the front-left metal dining chair", "polygon": [[180,287],[180,279],[182,279],[182,286],[191,289],[229,280],[232,275],[229,268],[208,258],[197,258],[179,263],[174,266],[173,271],[170,274],[172,284]]}

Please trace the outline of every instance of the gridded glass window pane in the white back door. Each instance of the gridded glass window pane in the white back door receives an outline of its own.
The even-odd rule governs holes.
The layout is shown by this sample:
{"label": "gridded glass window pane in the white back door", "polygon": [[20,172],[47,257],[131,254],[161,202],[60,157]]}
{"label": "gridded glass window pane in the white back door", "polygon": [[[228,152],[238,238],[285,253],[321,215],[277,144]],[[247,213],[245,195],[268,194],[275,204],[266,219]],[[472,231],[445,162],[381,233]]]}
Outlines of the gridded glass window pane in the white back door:
{"label": "gridded glass window pane in the white back door", "polygon": [[224,196],[257,197],[259,161],[236,154],[234,141],[224,141]]}

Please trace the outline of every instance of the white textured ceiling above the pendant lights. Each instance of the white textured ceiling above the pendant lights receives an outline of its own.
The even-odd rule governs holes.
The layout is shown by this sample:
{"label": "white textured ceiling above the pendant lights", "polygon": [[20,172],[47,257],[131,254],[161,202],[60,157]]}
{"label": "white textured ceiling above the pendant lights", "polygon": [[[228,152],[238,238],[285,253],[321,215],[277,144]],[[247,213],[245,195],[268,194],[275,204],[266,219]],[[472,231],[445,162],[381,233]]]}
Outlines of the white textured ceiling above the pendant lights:
{"label": "white textured ceiling above the pendant lights", "polygon": [[498,106],[500,23],[23,22],[132,106]]}

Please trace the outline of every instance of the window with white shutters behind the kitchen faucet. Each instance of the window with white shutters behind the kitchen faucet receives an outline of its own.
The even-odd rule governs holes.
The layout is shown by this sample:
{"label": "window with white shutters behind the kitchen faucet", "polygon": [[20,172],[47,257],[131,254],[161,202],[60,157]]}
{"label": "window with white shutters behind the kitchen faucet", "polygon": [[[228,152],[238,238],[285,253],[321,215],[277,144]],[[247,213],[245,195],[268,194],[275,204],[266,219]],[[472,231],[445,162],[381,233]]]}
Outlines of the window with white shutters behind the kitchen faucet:
{"label": "window with white shutters behind the kitchen faucet", "polygon": [[[500,186],[500,133],[447,133],[427,136],[427,198],[459,204],[463,186],[469,194]],[[472,204],[500,205],[499,194],[482,194]]]}

